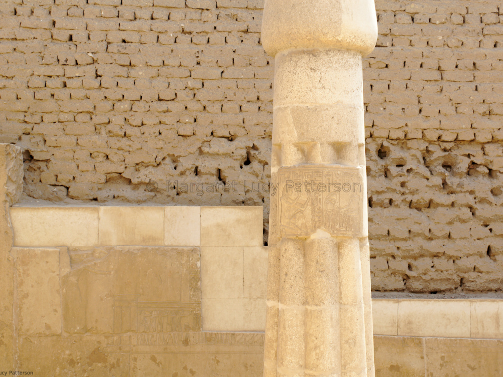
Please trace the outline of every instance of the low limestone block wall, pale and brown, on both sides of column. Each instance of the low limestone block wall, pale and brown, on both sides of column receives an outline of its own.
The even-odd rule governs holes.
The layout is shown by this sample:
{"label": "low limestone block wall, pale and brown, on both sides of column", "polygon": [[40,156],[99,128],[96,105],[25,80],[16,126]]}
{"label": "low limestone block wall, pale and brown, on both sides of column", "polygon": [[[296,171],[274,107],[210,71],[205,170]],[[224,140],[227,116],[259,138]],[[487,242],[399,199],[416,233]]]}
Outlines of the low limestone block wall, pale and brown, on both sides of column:
{"label": "low limestone block wall, pale and brown, on both sides of column", "polygon": [[[13,363],[39,375],[262,375],[261,207],[10,207]],[[159,226],[160,223],[160,226]],[[499,375],[500,300],[374,299],[376,375]]]}

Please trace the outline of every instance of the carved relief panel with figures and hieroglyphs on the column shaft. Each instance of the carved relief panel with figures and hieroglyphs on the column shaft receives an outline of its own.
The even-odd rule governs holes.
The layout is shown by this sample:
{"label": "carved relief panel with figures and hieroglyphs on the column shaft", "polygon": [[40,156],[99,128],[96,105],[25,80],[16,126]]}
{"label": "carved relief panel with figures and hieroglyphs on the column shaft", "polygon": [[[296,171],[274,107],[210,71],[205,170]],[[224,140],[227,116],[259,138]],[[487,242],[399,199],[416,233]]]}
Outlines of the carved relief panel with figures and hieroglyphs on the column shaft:
{"label": "carved relief panel with figures and hieroglyphs on the column shaft", "polygon": [[362,232],[363,179],[360,168],[340,165],[282,167],[277,173],[280,236]]}

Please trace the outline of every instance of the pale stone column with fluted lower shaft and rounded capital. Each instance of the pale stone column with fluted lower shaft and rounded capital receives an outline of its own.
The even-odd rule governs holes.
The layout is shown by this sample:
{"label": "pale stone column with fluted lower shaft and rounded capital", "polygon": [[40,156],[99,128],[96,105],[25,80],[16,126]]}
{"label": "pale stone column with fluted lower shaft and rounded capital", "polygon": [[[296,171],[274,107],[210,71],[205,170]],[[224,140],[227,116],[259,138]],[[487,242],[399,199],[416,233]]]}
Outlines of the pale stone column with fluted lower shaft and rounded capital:
{"label": "pale stone column with fluted lower shaft and rounded capital", "polygon": [[374,375],[362,55],[376,40],[373,0],[265,2],[276,188],[267,377]]}

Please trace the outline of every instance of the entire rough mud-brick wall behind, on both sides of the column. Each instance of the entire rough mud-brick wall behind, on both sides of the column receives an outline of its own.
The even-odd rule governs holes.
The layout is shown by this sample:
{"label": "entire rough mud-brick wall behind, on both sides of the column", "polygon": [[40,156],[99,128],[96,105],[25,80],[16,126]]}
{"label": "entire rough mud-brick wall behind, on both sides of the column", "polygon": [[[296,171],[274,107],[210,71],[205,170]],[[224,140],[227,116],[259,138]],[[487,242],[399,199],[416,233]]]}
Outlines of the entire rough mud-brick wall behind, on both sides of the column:
{"label": "entire rough mud-brick wall behind, on both sides of the column", "polygon": [[[264,205],[267,238],[274,61],[262,7],[2,2],[0,142],[24,151],[25,195]],[[376,10],[364,62],[373,289],[501,290],[503,6]]]}

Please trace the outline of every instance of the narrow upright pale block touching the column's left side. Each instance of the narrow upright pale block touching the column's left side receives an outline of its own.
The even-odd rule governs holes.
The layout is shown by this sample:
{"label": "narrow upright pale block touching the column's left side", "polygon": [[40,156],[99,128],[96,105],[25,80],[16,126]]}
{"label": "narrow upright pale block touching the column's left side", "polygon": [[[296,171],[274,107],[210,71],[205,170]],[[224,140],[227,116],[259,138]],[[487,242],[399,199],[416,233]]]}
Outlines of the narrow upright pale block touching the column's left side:
{"label": "narrow upright pale block touching the column's left side", "polygon": [[244,250],[244,297],[267,296],[267,246],[245,246]]}

